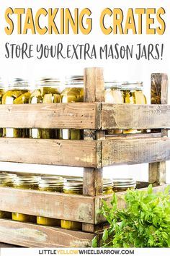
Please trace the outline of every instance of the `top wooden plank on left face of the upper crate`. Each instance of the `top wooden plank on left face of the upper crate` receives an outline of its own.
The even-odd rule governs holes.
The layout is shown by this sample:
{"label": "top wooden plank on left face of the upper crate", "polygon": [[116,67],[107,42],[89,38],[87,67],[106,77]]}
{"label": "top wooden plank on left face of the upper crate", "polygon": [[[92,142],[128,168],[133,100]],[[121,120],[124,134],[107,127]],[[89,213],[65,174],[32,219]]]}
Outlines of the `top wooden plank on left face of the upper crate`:
{"label": "top wooden plank on left face of the upper crate", "polygon": [[1,105],[1,128],[99,129],[100,108],[98,103]]}

